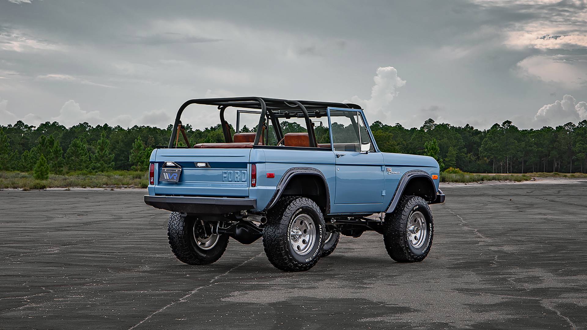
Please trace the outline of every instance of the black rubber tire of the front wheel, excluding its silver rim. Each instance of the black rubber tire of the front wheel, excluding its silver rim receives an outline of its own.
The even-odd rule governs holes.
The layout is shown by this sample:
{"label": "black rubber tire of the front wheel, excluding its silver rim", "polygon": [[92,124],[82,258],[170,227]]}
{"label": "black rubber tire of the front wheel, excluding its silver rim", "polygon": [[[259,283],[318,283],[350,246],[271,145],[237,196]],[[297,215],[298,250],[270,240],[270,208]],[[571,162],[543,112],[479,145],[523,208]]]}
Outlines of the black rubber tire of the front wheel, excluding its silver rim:
{"label": "black rubber tire of the front wheel, excluding its silver rim", "polygon": [[[410,216],[420,212],[426,219],[426,237],[420,248],[414,248],[408,238],[407,223]],[[402,196],[392,214],[388,214],[384,221],[383,242],[387,253],[397,262],[418,262],[424,260],[432,246],[434,237],[434,223],[432,212],[424,198],[419,196]]]}

